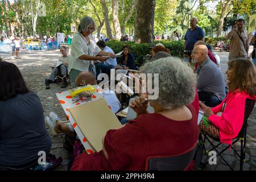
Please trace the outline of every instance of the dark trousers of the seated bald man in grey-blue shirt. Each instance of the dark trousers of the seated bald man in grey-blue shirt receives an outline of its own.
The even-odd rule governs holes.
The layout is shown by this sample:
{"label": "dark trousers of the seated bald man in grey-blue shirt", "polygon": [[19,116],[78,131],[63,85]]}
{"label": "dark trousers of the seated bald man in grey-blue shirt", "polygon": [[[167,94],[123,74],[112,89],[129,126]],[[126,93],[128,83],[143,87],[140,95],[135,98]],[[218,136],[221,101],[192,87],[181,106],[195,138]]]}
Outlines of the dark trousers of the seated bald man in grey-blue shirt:
{"label": "dark trousers of the seated bald man in grey-blue shirt", "polygon": [[217,96],[213,95],[212,93],[208,92],[203,92],[200,91],[198,92],[199,100],[204,102],[205,105],[208,107],[215,107],[219,104],[221,104],[221,100],[218,99]]}

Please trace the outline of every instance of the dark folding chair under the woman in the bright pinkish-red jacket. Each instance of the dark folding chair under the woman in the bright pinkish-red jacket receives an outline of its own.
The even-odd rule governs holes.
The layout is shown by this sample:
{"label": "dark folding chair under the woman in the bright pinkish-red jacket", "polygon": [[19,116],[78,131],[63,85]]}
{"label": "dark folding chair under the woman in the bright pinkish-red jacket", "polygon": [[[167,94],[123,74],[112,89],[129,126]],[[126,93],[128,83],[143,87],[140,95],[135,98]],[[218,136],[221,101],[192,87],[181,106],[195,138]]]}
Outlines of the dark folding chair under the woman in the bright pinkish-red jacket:
{"label": "dark folding chair under the woman in the bright pinkish-red jacket", "polygon": [[[232,142],[232,146],[231,148],[234,150],[234,152],[238,155],[238,157],[240,158],[240,171],[243,170],[243,163],[245,162],[245,151],[246,151],[246,131],[247,131],[247,126],[248,126],[248,123],[247,123],[247,119],[249,118],[249,115],[251,114],[251,111],[253,111],[253,108],[254,108],[254,105],[255,105],[255,100],[251,100],[249,98],[246,99],[245,101],[245,115],[243,117],[243,125],[242,125],[242,128],[240,130],[240,133],[238,133],[237,137],[234,138],[233,142]],[[204,138],[203,138],[203,136]],[[201,144],[203,144],[203,150],[205,151],[206,154],[208,154],[210,151],[212,150],[215,150],[218,155],[217,156],[220,156],[222,158],[222,160],[224,160],[224,162],[229,166],[229,168],[234,171],[234,169],[228,164],[228,162],[226,162],[226,160],[224,159],[224,157],[221,155],[224,151],[226,151],[230,146],[224,148],[222,151],[218,151],[217,150],[217,147],[220,146],[222,143],[218,143],[217,145],[214,145],[210,139],[213,139],[214,141],[217,141],[217,142],[220,142],[220,139],[219,138],[214,138],[214,137],[211,137],[210,135],[204,133],[203,131],[201,131],[200,133],[200,142]],[[209,151],[206,150],[205,148],[205,140],[208,140],[208,142],[210,143],[210,145],[213,147],[211,148]],[[238,152],[236,151],[236,149],[234,149],[233,147],[233,144],[237,143],[238,141],[240,140],[241,142],[241,151],[240,151],[240,154],[238,154]],[[204,165],[206,165],[207,163],[205,163]]]}

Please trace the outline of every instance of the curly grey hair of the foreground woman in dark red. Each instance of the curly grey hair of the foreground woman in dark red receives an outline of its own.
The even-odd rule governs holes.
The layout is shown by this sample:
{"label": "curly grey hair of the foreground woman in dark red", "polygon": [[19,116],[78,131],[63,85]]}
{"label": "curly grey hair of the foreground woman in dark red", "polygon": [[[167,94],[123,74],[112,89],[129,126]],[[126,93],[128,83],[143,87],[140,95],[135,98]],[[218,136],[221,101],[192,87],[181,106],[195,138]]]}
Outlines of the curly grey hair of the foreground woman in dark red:
{"label": "curly grey hair of the foreground woman in dark red", "polygon": [[[178,57],[164,57],[141,67],[142,73],[159,73],[159,97],[155,100],[164,108],[171,109],[191,104],[195,99],[196,75]],[[154,84],[152,84],[154,85]]]}

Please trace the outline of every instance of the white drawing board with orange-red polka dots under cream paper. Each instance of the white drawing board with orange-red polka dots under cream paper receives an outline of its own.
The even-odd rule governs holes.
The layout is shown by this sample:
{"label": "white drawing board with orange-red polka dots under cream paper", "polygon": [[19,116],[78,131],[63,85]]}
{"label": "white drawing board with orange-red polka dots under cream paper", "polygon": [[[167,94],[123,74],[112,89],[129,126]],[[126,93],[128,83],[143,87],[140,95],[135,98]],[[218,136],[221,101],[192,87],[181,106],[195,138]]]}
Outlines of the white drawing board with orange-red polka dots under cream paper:
{"label": "white drawing board with orange-red polka dots under cream paper", "polygon": [[[100,92],[100,89],[97,89],[96,85],[94,87],[96,88],[96,90],[98,92],[94,92],[92,94],[92,100],[90,100],[88,102],[95,101],[95,100],[98,100],[100,98],[103,98],[103,96]],[[61,106],[63,107],[63,110],[65,111],[65,114],[67,115],[67,118],[69,118],[69,121],[71,122],[72,127],[76,131],[77,136],[81,140],[85,150],[88,152],[88,154],[92,154],[94,152],[93,148],[90,146],[90,144],[86,140],[85,136],[82,134],[81,130],[77,126],[77,123],[75,122],[71,113],[68,110],[70,107],[79,106],[79,105],[82,105],[82,104],[86,104],[88,102],[75,102],[75,103],[73,103],[72,102],[72,96],[70,95],[70,93],[68,91],[58,92],[58,93],[56,93],[56,96],[57,96]]]}

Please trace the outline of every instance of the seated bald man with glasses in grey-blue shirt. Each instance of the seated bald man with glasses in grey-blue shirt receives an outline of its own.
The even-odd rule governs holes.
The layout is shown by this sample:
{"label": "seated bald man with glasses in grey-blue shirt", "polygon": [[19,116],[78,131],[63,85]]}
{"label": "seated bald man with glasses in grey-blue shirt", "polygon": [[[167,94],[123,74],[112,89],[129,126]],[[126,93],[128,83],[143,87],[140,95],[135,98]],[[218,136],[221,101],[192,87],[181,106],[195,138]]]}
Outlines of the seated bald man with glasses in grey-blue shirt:
{"label": "seated bald man with glasses in grey-blue shirt", "polygon": [[209,59],[208,48],[198,45],[193,48],[192,63],[196,69],[199,100],[209,107],[215,107],[226,97],[223,74],[216,64]]}

